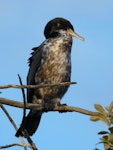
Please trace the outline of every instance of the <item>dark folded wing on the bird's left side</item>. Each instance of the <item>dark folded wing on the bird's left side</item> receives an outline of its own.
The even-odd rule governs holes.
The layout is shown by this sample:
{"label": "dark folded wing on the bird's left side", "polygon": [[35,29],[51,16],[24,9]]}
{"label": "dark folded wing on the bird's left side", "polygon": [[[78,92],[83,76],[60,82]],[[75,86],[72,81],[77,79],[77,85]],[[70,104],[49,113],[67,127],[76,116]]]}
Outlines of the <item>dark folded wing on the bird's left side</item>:
{"label": "dark folded wing on the bird's left side", "polygon": [[[27,84],[28,85],[35,85],[35,73],[37,72],[40,63],[41,63],[41,56],[42,56],[42,49],[41,47],[34,47],[33,52],[31,53],[31,57],[29,58],[29,72],[27,76]],[[34,89],[27,89],[27,101],[32,102],[32,96],[34,93]]]}

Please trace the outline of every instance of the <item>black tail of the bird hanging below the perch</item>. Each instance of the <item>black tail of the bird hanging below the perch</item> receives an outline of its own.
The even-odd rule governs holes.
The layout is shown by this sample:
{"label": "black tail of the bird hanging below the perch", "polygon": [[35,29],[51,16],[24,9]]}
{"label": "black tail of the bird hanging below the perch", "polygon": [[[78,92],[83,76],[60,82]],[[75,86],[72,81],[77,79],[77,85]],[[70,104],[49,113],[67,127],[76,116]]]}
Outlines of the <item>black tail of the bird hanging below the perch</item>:
{"label": "black tail of the bird hanging below the perch", "polygon": [[30,111],[28,116],[24,119],[23,123],[21,124],[21,127],[16,132],[15,136],[23,136],[22,131],[24,131],[24,129],[26,129],[28,134],[32,136],[38,128],[41,116],[42,112]]}

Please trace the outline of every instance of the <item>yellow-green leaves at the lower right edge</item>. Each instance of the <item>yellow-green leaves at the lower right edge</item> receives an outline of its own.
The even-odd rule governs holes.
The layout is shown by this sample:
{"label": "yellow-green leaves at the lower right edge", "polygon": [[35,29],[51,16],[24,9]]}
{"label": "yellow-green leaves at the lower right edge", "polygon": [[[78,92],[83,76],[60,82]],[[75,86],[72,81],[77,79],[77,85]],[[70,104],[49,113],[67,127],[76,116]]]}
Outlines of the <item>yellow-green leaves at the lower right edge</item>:
{"label": "yellow-green leaves at the lower right edge", "polygon": [[98,144],[104,144],[105,150],[113,150],[113,102],[105,109],[99,105],[94,105],[95,109],[99,112],[98,116],[91,116],[92,121],[103,121],[108,126],[108,131],[100,131],[98,134],[102,137]]}

